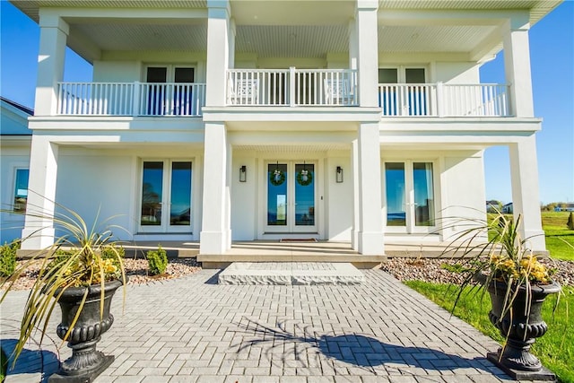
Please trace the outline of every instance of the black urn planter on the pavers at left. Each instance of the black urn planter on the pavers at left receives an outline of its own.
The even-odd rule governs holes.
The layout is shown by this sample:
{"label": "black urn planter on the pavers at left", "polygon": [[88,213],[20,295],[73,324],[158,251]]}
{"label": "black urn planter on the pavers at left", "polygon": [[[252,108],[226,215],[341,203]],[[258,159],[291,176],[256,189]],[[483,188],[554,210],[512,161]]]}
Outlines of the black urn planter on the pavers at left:
{"label": "black urn planter on the pavers at left", "polygon": [[[56,374],[50,376],[49,383],[86,383],[98,377],[114,361],[113,355],[104,355],[96,351],[96,344],[101,335],[114,323],[114,316],[109,312],[111,299],[122,285],[119,280],[105,283],[103,314],[100,316],[101,285],[90,287],[72,287],[65,290],[57,301],[62,309],[62,323],[57,326],[57,335],[64,339],[74,321],[83,294],[89,289],[80,317],[67,338],[72,356],[61,363]],[[59,291],[57,291],[57,294]]]}

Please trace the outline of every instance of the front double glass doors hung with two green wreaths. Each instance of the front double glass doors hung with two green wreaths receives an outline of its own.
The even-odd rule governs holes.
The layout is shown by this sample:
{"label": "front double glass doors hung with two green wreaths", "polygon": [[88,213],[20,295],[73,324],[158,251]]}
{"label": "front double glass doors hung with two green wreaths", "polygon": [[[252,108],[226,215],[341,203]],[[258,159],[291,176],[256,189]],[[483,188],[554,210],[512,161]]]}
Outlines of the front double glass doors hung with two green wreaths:
{"label": "front double glass doors hung with two green wreaths", "polygon": [[317,173],[315,163],[267,163],[266,232],[317,232]]}

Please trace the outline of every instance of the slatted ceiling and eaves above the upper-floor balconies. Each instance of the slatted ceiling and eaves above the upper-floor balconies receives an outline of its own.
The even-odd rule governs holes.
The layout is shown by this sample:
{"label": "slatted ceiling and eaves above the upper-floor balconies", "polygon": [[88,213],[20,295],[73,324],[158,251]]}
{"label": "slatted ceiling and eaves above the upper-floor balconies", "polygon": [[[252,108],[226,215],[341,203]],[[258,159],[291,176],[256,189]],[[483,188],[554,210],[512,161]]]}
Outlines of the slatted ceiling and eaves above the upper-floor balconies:
{"label": "slatted ceiling and eaves above the upper-floor balconies", "polygon": [[[106,51],[187,51],[205,52],[207,22],[204,18],[157,19],[150,13],[128,12],[181,9],[205,12],[205,0],[11,0],[36,22],[41,7],[74,7],[70,24],[71,48],[89,62]],[[381,0],[379,18],[398,11],[467,11],[530,10],[530,22],[537,22],[561,3],[561,0]],[[328,4],[328,6],[327,6]],[[237,25],[236,52],[256,57],[325,58],[328,53],[348,52],[349,22],[354,15],[354,1],[232,1],[231,13]],[[124,11],[122,17],[106,16],[109,9]],[[101,12],[102,10],[108,11]],[[88,11],[88,12],[85,12]],[[71,13],[70,13],[71,14]],[[164,13],[165,14],[165,13]],[[178,18],[179,17],[179,18]],[[378,49],[385,53],[491,53],[500,48],[496,24],[428,25],[421,22],[379,22]],[[85,49],[85,42],[91,49]]]}

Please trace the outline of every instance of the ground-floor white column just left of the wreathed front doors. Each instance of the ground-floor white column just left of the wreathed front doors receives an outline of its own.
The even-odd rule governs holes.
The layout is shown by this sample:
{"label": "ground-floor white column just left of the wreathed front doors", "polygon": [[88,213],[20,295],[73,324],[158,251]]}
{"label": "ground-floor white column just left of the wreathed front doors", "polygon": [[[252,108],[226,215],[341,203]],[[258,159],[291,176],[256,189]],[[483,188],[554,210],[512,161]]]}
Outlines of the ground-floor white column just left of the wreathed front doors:
{"label": "ground-floor white column just left of the wreathed front doors", "polygon": [[204,139],[204,201],[200,254],[223,254],[229,241],[227,130],[223,123],[206,123]]}

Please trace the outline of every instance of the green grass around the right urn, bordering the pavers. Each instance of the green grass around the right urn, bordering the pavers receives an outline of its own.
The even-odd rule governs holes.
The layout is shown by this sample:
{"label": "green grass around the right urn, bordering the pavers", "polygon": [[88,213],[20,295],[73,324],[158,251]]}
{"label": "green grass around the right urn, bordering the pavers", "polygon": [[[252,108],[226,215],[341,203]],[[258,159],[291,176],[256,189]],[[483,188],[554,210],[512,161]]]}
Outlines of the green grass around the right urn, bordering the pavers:
{"label": "green grass around the right urn, bordering the pavers", "polygon": [[[457,291],[457,286],[421,281],[410,281],[405,284],[421,292],[444,309],[452,309],[455,299],[453,294]],[[536,340],[532,346],[532,353],[563,383],[574,383],[574,320],[569,318],[567,313],[569,306],[574,307],[574,288],[570,286],[564,288],[563,291],[564,295],[561,296],[553,317],[552,309],[557,297],[551,296],[544,303],[543,318],[549,329],[543,337]],[[463,294],[457,303],[454,315],[502,343],[504,338],[488,319],[488,311],[491,309],[490,298],[488,294],[485,294],[481,300],[481,296],[480,292]]]}

